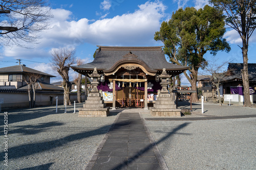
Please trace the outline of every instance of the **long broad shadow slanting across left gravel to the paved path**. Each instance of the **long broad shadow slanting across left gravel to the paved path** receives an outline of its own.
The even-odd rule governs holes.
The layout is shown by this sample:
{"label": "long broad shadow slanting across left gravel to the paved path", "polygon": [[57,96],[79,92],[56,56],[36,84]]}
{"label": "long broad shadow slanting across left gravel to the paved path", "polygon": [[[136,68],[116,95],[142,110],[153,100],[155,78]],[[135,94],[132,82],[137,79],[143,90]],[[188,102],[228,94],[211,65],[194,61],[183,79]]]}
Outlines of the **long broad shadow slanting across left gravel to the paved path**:
{"label": "long broad shadow slanting across left gravel to the paved path", "polygon": [[[121,122],[121,126],[125,126],[126,122]],[[72,134],[60,139],[50,140],[50,141],[43,141],[43,142],[37,142],[37,143],[29,143],[29,144],[23,144],[19,145],[17,147],[8,148],[8,157],[9,159],[15,159],[15,158],[21,158],[26,157],[32,154],[37,154],[41,152],[47,152],[51,151],[52,149],[62,147],[63,145],[67,145],[69,147],[69,142],[84,139],[90,136],[100,135],[100,134],[106,134],[108,130],[110,129],[111,125],[103,126],[99,129],[88,131],[88,132],[81,132]],[[49,136],[51,138],[52,136]],[[4,157],[5,152],[1,152],[0,156]],[[2,158],[3,158],[2,157]]]}

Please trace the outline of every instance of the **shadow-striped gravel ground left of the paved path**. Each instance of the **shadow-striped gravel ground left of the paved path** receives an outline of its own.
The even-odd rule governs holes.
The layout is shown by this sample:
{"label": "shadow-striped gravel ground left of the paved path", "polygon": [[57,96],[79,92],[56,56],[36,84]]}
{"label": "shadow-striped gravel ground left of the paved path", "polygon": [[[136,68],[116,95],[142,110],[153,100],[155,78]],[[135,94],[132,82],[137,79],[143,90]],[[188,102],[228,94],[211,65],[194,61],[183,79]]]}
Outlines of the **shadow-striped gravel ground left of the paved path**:
{"label": "shadow-striped gravel ground left of the paved path", "polygon": [[66,114],[63,106],[55,111],[55,107],[8,111],[8,167],[3,161],[0,114],[0,169],[84,169],[117,115],[78,117],[74,106],[68,106]]}

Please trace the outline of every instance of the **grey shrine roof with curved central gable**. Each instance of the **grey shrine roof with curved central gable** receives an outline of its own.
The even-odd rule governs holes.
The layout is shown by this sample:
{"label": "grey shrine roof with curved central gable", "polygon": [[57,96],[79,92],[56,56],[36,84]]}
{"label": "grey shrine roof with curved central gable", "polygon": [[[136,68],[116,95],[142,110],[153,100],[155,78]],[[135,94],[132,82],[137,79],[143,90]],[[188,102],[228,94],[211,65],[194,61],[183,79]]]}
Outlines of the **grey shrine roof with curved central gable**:
{"label": "grey shrine roof with curved central gable", "polygon": [[125,62],[140,63],[145,68],[156,72],[167,70],[186,70],[188,67],[166,61],[162,46],[98,46],[95,59],[91,63],[72,66],[75,70],[111,70],[115,65]]}

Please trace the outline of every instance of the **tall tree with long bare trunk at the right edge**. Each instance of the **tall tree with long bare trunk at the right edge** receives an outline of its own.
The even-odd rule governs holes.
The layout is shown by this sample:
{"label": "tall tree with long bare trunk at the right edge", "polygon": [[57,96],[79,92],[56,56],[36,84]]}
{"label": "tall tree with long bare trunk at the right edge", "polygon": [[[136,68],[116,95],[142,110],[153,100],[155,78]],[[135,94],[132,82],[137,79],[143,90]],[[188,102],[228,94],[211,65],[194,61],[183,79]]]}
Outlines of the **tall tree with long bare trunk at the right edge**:
{"label": "tall tree with long bare trunk at the right edge", "polygon": [[226,24],[236,30],[242,39],[244,86],[244,107],[250,107],[250,89],[248,75],[248,45],[249,38],[256,28],[256,0],[211,0],[219,10],[225,11]]}

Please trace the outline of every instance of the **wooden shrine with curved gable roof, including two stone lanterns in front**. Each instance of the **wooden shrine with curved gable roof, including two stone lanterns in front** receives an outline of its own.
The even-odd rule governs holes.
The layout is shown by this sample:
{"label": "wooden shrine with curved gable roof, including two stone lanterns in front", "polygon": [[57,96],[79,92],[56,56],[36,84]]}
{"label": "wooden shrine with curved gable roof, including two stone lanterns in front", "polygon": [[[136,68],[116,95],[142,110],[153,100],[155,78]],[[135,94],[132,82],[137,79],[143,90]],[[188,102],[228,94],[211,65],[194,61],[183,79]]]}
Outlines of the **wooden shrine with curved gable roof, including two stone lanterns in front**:
{"label": "wooden shrine with curved gable roof, including two stone lanterns in front", "polygon": [[79,109],[81,117],[107,116],[109,107],[150,107],[155,116],[180,112],[168,80],[188,67],[167,62],[162,46],[98,46],[93,62],[71,68],[92,79],[88,100]]}

